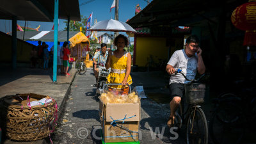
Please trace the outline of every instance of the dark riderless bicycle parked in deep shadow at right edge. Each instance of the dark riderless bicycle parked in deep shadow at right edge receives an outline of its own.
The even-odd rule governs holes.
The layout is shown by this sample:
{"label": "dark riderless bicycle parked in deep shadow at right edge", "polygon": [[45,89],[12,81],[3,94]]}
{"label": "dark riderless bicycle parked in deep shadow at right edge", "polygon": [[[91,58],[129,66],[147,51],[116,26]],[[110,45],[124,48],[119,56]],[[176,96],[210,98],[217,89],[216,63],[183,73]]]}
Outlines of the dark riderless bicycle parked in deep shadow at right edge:
{"label": "dark riderless bicycle parked in deep shadow at right edge", "polygon": [[209,132],[214,143],[241,143],[246,129],[255,131],[255,90],[242,91],[243,97],[223,93],[212,100],[216,108],[211,116]]}

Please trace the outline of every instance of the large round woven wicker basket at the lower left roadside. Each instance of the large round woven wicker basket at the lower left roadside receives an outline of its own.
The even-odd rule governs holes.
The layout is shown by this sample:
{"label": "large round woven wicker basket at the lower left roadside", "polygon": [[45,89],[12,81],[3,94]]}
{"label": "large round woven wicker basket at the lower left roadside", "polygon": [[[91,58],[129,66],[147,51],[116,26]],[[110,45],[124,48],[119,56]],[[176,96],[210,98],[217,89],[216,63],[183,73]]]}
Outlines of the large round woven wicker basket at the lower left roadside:
{"label": "large round woven wicker basket at the lower left roadside", "polygon": [[[8,95],[0,99],[1,126],[10,140],[36,141],[46,138],[51,133],[51,122],[58,115],[56,101],[52,99],[46,105],[24,106],[28,99],[40,100],[47,96],[35,93]],[[16,100],[16,104],[6,102]],[[19,100],[19,102],[17,102]],[[23,103],[23,106],[22,106]]]}

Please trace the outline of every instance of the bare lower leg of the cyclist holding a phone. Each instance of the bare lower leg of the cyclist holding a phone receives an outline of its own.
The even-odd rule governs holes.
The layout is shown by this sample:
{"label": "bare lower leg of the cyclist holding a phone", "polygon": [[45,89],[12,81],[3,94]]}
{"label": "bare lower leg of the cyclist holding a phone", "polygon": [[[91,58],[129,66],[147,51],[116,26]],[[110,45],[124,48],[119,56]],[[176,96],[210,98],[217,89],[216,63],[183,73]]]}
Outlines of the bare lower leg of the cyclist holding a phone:
{"label": "bare lower leg of the cyclist holding a phone", "polygon": [[175,111],[179,107],[180,100],[181,100],[180,97],[173,97],[172,101],[170,102],[171,114],[170,114],[169,120],[167,122],[168,127],[171,127],[173,125],[173,122],[175,120]]}

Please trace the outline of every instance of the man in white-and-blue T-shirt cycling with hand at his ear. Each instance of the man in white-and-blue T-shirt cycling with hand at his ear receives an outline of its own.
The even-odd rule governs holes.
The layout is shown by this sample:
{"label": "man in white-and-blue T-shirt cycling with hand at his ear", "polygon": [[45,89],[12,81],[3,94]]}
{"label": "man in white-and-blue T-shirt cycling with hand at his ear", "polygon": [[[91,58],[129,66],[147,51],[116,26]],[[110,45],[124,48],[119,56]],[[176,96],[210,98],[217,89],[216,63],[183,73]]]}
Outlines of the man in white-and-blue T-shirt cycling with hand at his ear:
{"label": "man in white-and-blue T-shirt cycling with hand at his ear", "polygon": [[[186,40],[185,49],[175,51],[170,58],[166,71],[173,75],[180,68],[188,79],[195,79],[196,72],[204,74],[205,65],[202,58],[202,49],[199,47],[199,39],[196,35],[191,35]],[[167,125],[173,127],[175,120],[175,111],[179,107],[180,100],[184,95],[184,83],[188,83],[181,74],[170,77],[170,117]]]}

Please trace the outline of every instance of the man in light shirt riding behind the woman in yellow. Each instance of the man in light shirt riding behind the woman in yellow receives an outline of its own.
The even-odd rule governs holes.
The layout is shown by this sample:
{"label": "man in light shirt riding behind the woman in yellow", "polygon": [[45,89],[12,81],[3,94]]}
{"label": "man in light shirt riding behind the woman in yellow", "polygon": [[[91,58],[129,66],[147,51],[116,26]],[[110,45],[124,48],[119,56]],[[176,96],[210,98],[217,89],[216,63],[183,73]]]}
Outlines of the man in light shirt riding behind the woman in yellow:
{"label": "man in light shirt riding behind the woman in yellow", "polygon": [[[93,72],[94,72],[94,76],[96,77],[96,84],[97,84],[97,80],[98,80],[98,76],[99,76],[99,68],[97,67],[97,63],[103,63],[105,67],[105,63],[107,61],[108,58],[108,51],[107,50],[107,45],[105,43],[102,43],[100,45],[101,47],[101,51],[98,51],[94,56],[93,56]],[[98,60],[98,62],[96,61]]]}

